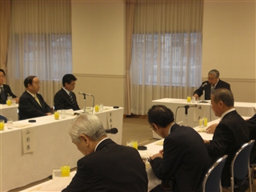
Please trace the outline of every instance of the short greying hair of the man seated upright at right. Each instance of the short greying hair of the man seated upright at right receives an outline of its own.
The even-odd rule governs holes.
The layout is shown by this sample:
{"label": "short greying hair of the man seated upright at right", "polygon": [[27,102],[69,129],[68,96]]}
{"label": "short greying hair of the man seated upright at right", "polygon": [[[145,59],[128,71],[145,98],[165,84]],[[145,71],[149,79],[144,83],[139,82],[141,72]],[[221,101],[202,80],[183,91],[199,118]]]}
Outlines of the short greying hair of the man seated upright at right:
{"label": "short greying hair of the man seated upright at right", "polygon": [[214,90],[212,95],[215,103],[222,101],[227,107],[234,106],[234,96],[230,90],[219,88]]}

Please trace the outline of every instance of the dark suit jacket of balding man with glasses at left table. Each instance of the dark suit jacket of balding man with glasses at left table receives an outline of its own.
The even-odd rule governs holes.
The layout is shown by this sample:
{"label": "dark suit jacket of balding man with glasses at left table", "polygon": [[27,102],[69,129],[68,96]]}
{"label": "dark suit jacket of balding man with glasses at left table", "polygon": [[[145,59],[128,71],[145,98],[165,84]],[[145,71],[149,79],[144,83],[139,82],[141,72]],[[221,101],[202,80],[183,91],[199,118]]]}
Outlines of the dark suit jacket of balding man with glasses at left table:
{"label": "dark suit jacket of balding man with glasses at left table", "polygon": [[19,120],[26,118],[37,118],[45,116],[46,113],[51,113],[50,106],[48,106],[43,100],[42,95],[37,94],[37,97],[41,106],[27,91],[22,94],[18,103]]}

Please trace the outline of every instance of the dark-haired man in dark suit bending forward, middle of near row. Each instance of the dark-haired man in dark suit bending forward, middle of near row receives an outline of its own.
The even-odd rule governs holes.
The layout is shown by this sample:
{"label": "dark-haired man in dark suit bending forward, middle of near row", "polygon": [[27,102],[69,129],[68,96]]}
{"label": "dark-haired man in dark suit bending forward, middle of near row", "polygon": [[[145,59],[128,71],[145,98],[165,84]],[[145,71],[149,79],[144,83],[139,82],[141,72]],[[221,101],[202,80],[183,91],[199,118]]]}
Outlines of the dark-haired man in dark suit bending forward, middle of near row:
{"label": "dark-haired man in dark suit bending forward, middle of near row", "polygon": [[[163,150],[149,158],[154,174],[161,180],[174,178],[173,191],[202,190],[210,157],[200,134],[174,123],[174,114],[166,106],[152,106],[148,121],[151,130],[165,138]],[[152,191],[162,190],[157,186]]]}

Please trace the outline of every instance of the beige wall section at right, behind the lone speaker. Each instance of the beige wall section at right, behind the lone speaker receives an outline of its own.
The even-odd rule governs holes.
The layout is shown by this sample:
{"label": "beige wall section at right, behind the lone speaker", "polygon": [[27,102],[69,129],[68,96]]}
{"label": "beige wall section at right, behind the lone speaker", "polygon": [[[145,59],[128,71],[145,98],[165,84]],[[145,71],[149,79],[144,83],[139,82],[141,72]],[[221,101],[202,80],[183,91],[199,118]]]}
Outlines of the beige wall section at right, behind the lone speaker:
{"label": "beige wall section at right, behind the lone speaker", "polygon": [[202,77],[217,69],[237,102],[256,102],[255,1],[205,0]]}

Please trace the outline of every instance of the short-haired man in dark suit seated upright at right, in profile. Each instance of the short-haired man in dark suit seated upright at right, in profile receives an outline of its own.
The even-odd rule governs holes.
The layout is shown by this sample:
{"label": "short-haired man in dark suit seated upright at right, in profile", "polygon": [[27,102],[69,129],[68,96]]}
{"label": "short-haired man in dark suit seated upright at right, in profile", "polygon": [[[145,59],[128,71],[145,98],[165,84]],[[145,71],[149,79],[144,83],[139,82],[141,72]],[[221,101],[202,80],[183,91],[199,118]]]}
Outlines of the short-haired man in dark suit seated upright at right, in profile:
{"label": "short-haired man in dark suit seated upright at right, in profile", "polygon": [[[230,166],[236,152],[249,142],[246,121],[234,109],[234,97],[230,90],[220,88],[211,94],[214,114],[221,118],[212,140],[204,140],[210,157],[215,161],[227,154],[222,170],[222,186],[230,186]],[[235,181],[236,182],[236,181]]]}

